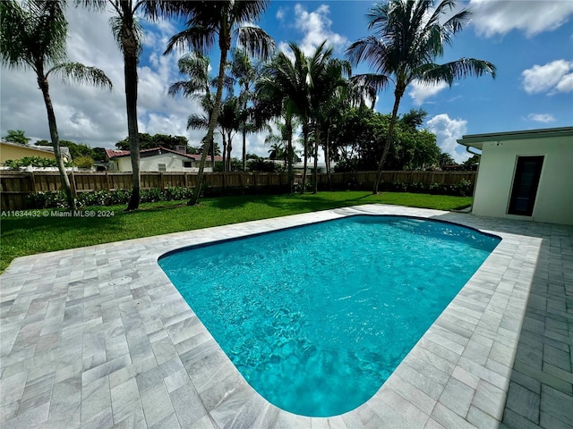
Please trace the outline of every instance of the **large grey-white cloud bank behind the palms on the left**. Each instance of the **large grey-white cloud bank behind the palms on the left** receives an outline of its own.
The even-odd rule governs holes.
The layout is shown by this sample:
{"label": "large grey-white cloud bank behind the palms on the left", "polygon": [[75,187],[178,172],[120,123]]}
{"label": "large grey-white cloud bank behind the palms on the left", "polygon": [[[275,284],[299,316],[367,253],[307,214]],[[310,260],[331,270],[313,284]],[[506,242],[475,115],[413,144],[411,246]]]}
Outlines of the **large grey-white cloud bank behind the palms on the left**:
{"label": "large grey-white cloud bank behind the palms on the left", "polygon": [[[61,139],[114,147],[127,137],[125,114],[124,61],[109,27],[111,13],[68,7],[68,57],[94,65],[106,72],[113,91],[64,84],[50,79],[50,95],[56,111]],[[167,96],[167,88],[181,79],[177,55],[163,56],[167,39],[175,29],[166,21],[145,23],[144,52],[139,74],[138,122],[140,132],[184,135],[198,146],[204,131],[185,130],[187,116],[199,112],[192,100]],[[145,64],[145,65],[144,65]],[[34,139],[49,139],[46,106],[31,71],[2,71],[0,128],[25,130]]]}

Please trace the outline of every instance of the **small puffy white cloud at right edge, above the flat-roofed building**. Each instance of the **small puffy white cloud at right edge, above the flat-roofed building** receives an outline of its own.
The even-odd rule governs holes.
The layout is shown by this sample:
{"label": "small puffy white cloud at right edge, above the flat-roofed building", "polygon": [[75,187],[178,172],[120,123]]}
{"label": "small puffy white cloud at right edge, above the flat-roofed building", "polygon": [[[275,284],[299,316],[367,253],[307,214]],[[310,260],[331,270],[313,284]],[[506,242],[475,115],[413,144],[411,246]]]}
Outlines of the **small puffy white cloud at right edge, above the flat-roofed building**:
{"label": "small puffy white cloud at right edge, above the flat-roofed building", "polygon": [[573,91],[573,62],[555,60],[544,65],[535,64],[521,73],[527,94]]}

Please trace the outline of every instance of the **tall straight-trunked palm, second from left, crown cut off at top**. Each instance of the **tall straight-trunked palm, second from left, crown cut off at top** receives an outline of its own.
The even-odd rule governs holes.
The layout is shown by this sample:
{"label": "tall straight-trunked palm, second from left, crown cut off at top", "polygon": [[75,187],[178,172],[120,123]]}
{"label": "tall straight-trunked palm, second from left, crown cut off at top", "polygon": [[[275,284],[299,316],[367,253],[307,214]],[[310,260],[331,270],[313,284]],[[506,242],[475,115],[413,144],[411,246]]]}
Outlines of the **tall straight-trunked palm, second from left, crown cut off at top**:
{"label": "tall straight-trunked palm, second from left, crown cut off at top", "polygon": [[132,160],[132,196],[127,210],[136,210],[140,205],[140,134],[137,124],[137,65],[141,55],[143,29],[137,19],[143,13],[150,19],[156,19],[160,13],[166,16],[179,13],[177,2],[167,0],[75,0],[76,4],[99,11],[111,7],[115,15],[110,24],[117,45],[124,55],[125,109],[127,114],[127,139]]}

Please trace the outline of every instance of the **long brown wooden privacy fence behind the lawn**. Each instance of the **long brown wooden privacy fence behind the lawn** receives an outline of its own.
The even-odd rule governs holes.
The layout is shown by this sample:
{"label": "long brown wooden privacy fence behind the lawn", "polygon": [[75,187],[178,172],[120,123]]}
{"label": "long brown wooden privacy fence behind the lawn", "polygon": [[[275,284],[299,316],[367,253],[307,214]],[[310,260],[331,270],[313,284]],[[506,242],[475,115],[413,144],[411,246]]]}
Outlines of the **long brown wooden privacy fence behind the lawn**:
{"label": "long brown wooden privacy fence behind the lawn", "polygon": [[[131,172],[68,172],[73,191],[78,194],[93,190],[132,189]],[[336,172],[331,174],[335,189],[348,183],[368,186],[373,184],[376,172]],[[475,172],[383,172],[382,181],[404,183],[422,182],[456,184],[462,180],[475,181]],[[295,183],[302,181],[301,174],[295,174]],[[312,174],[307,175],[312,181]],[[326,185],[327,175],[318,175],[320,185]],[[193,172],[142,172],[141,189],[166,189],[169,187],[194,188],[197,174]],[[209,188],[218,189],[261,189],[273,187],[288,190],[286,172],[207,172],[204,183]],[[58,172],[0,172],[0,192],[2,210],[25,208],[27,195],[37,192],[54,192],[62,188]]]}

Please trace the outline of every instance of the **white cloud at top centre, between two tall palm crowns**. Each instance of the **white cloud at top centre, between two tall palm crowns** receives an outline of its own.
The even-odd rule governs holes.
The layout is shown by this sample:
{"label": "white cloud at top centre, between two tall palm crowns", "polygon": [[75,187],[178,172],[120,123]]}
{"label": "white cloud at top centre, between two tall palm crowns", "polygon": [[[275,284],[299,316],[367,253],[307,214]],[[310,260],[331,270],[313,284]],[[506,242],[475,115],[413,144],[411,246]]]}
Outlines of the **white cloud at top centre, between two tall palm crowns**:
{"label": "white cloud at top centre, between two tall palm crowns", "polygon": [[[279,10],[278,19],[284,21],[285,10]],[[297,41],[301,46],[304,54],[310,55],[325,39],[328,40],[329,46],[335,50],[342,51],[348,45],[348,39],[332,31],[332,21],[329,19],[329,6],[321,4],[315,11],[308,12],[301,4],[295,4],[295,23],[294,28],[303,33],[303,38]],[[285,51],[286,43],[280,42],[278,48]]]}

